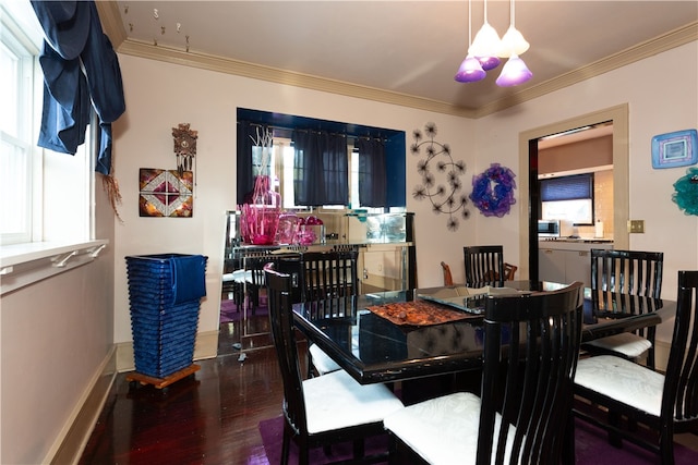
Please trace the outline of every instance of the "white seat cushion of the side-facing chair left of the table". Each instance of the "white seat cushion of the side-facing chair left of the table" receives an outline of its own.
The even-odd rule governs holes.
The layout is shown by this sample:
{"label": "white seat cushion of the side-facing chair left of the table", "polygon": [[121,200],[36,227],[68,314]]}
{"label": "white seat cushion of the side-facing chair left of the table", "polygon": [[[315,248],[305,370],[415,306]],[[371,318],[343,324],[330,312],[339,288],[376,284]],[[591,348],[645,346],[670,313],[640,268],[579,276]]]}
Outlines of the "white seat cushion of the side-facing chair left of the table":
{"label": "white seat cushion of the side-facing chair left of the table", "polygon": [[304,380],[303,395],[311,433],[381,421],[402,408],[384,384],[359,384],[345,370]]}

